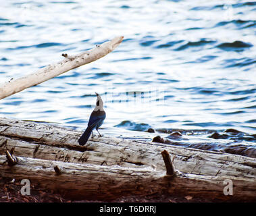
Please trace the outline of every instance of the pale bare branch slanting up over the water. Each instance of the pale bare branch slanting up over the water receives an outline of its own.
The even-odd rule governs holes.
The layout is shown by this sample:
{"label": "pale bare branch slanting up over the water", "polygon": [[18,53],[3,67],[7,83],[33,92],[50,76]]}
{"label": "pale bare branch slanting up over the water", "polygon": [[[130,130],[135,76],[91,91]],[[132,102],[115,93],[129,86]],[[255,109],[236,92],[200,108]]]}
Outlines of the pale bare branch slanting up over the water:
{"label": "pale bare branch slanting up over the water", "polygon": [[107,41],[102,45],[97,45],[95,48],[78,55],[63,54],[65,57],[63,61],[41,68],[34,74],[29,74],[28,76],[18,78],[17,80],[5,82],[0,85],[0,99],[4,99],[11,94],[15,94],[31,86],[36,86],[86,63],[96,61],[116,49],[116,47],[122,43],[123,38],[124,36],[117,36],[111,41]]}

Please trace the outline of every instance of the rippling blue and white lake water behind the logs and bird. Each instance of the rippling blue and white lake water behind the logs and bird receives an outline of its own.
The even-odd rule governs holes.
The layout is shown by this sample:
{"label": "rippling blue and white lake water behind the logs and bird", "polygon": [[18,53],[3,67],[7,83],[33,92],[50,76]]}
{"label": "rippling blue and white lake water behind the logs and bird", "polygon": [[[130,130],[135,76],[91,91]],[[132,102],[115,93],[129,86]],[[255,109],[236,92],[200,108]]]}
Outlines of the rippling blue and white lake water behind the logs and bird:
{"label": "rippling blue and white lake water behind the logs and bird", "polygon": [[98,92],[103,134],[233,128],[255,146],[255,1],[8,0],[0,11],[1,83],[124,36],[102,59],[1,100],[1,117],[84,130]]}

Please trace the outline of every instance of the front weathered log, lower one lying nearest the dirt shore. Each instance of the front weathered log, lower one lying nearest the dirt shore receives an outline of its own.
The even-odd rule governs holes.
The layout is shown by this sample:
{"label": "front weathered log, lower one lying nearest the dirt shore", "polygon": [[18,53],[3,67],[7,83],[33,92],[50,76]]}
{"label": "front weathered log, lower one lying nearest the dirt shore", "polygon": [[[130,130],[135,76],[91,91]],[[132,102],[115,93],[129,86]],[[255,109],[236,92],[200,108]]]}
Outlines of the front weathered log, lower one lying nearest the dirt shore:
{"label": "front weathered log, lower one lying nearest the dirt shore", "polygon": [[[69,198],[91,198],[111,200],[125,195],[146,195],[169,192],[190,194],[211,198],[228,198],[223,194],[224,176],[176,174],[168,178],[163,171],[152,167],[121,167],[118,165],[78,165],[60,161],[48,161],[18,157],[14,167],[4,165],[5,157],[0,155],[1,175],[16,179],[29,179],[41,186],[61,192]],[[60,167],[56,175],[53,167]],[[255,181],[230,177],[234,186],[232,200],[254,200]],[[246,184],[245,184],[246,183]]]}

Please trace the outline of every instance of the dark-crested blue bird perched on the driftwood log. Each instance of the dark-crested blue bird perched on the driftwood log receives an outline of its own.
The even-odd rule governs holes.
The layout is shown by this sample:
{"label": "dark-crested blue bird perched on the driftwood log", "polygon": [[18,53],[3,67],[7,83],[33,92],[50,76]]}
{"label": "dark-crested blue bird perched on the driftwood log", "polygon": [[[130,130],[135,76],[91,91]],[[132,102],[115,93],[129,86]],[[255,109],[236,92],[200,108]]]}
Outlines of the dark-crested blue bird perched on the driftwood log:
{"label": "dark-crested blue bird perched on the driftwood log", "polygon": [[[82,134],[82,136],[78,140],[78,142],[81,146],[86,144],[86,142],[88,141],[88,138],[90,137],[91,133],[93,132],[93,129],[96,128],[97,132],[99,133],[98,129],[103,124],[103,121],[106,117],[106,113],[103,109],[103,101],[101,99],[101,96],[96,92],[95,92],[95,94],[97,95],[97,102],[96,102],[95,109],[91,113],[90,119],[88,121],[88,126],[87,126],[86,130],[84,131],[84,134]],[[101,136],[100,133],[99,133],[99,136]]]}

